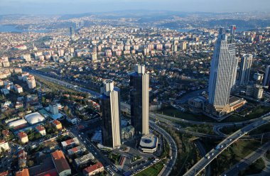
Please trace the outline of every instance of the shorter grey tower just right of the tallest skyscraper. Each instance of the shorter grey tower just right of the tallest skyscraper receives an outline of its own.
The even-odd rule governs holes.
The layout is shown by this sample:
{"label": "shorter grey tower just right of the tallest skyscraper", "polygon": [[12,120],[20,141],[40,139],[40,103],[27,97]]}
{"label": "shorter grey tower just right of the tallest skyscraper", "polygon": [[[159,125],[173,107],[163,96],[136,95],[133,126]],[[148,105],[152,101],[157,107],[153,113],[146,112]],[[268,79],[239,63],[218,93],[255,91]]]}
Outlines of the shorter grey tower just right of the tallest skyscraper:
{"label": "shorter grey tower just right of the tallest skyscraper", "polygon": [[249,82],[250,69],[252,67],[252,55],[243,55],[240,67],[239,84],[246,85]]}

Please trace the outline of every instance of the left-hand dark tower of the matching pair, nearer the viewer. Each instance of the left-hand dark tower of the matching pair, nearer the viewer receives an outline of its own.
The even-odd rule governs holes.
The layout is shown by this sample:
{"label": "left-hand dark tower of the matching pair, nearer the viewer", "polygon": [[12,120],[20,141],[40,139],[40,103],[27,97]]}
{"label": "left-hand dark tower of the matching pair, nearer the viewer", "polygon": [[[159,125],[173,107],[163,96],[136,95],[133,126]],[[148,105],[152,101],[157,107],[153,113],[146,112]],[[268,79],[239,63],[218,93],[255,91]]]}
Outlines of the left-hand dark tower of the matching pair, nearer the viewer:
{"label": "left-hand dark tower of the matching pair, nearer the viewer", "polygon": [[103,145],[116,148],[121,145],[120,89],[112,80],[104,82],[100,95]]}

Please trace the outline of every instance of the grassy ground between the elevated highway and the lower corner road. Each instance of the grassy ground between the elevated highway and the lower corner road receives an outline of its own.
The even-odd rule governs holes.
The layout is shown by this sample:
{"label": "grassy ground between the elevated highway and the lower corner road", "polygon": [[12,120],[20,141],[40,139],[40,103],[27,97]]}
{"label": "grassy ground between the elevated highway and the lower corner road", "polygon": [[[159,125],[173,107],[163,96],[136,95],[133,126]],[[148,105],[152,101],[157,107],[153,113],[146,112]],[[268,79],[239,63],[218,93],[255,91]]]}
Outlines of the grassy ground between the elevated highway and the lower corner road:
{"label": "grassy ground between the elevated highway and the lower corner road", "polygon": [[260,141],[237,141],[212,162],[212,175],[220,175],[244,157],[257,150]]}

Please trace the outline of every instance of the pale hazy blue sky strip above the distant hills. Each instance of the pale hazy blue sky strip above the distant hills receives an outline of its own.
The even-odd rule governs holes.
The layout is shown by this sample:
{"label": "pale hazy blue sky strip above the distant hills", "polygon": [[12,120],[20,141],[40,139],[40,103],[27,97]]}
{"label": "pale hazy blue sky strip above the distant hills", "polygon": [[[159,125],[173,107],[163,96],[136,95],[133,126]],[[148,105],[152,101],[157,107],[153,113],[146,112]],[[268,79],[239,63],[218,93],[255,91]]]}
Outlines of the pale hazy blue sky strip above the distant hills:
{"label": "pale hazy blue sky strip above the distant hills", "polygon": [[119,10],[270,11],[270,0],[0,0],[0,14],[68,14]]}

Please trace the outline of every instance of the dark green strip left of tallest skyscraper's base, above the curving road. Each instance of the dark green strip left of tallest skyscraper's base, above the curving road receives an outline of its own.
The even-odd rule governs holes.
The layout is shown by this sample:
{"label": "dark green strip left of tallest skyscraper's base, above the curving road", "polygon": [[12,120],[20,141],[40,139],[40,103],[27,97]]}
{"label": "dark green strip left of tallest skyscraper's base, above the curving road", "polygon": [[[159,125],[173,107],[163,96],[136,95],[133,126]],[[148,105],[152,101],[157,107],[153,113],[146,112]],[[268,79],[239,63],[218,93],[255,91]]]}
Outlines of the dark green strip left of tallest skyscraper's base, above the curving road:
{"label": "dark green strip left of tallest skyscraper's base, above the curving road", "polygon": [[208,116],[205,115],[197,115],[197,114],[191,114],[188,112],[183,112],[178,109],[175,109],[173,106],[166,106],[163,107],[160,111],[158,111],[159,114],[164,114],[167,116],[175,116],[176,118],[180,119],[186,119],[190,121],[208,121],[208,122],[215,122],[214,119],[211,119]]}

